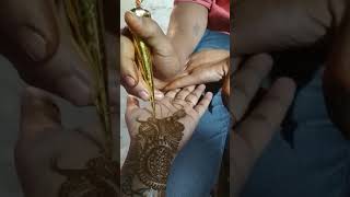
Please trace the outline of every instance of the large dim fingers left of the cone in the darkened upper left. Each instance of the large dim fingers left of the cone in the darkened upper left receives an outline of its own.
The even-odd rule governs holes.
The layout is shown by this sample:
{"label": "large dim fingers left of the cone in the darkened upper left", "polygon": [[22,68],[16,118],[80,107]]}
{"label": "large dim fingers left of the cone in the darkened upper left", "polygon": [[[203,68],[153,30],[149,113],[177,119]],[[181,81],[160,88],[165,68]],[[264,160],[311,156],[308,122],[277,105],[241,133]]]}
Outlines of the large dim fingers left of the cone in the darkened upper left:
{"label": "large dim fingers left of the cone in the darkened upper left", "polygon": [[[62,2],[1,1],[0,54],[31,85],[58,94],[75,105],[92,104],[89,66],[73,46]],[[112,40],[116,43],[115,39]],[[115,48],[110,48],[112,51],[115,53]],[[110,92],[116,104],[117,89]]]}

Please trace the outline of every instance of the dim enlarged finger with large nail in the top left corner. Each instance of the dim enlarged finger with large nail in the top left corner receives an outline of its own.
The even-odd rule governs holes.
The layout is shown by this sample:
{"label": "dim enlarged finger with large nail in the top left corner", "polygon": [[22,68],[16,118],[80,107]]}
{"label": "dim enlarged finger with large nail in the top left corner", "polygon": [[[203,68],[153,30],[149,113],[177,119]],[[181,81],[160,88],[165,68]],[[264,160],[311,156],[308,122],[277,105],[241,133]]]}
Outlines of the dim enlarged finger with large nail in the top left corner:
{"label": "dim enlarged finger with large nail in the top left corner", "polygon": [[[11,0],[1,3],[0,33],[12,46],[0,45],[7,56],[16,56],[31,62],[48,59],[59,43],[54,1]],[[4,40],[5,39],[5,40]],[[9,51],[12,47],[13,51]],[[8,53],[11,53],[8,54]]]}

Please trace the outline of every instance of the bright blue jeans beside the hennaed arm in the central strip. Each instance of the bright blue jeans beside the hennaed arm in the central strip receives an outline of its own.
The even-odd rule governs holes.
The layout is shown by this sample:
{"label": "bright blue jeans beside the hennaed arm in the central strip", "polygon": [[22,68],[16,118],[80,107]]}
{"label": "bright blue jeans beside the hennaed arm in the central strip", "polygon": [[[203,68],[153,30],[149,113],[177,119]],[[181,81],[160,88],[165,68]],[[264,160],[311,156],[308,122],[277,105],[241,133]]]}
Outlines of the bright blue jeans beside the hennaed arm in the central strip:
{"label": "bright blue jeans beside the hennaed arm in the central strip", "polygon": [[[230,36],[207,31],[196,51],[230,50]],[[215,184],[231,118],[219,91],[194,136],[175,158],[167,181],[167,197],[208,197]]]}

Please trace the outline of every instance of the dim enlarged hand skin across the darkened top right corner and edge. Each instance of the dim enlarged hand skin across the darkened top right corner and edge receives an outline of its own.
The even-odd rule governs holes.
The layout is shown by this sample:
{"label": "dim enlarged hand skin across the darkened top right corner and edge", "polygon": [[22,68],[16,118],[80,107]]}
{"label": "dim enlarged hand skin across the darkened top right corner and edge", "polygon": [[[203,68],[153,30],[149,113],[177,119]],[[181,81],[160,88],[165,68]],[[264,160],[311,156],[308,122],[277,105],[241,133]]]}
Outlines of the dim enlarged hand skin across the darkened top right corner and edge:
{"label": "dim enlarged hand skin across the darkened top right corner and edge", "polygon": [[[324,93],[331,120],[350,139],[349,2],[346,0],[244,0],[234,4],[237,56],[298,47],[329,49]],[[288,25],[287,25],[288,24]]]}

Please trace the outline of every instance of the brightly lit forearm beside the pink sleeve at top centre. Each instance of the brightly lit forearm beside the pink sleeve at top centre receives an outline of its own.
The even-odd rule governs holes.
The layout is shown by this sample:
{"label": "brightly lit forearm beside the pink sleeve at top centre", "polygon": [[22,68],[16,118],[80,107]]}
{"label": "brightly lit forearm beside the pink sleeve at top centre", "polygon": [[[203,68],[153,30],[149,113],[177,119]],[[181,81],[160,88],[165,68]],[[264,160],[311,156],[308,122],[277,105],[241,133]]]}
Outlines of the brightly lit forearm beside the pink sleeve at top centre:
{"label": "brightly lit forearm beside the pink sleeve at top centre", "polygon": [[203,36],[208,23],[208,9],[203,5],[183,2],[174,7],[167,30],[180,66],[185,66],[188,57]]}

